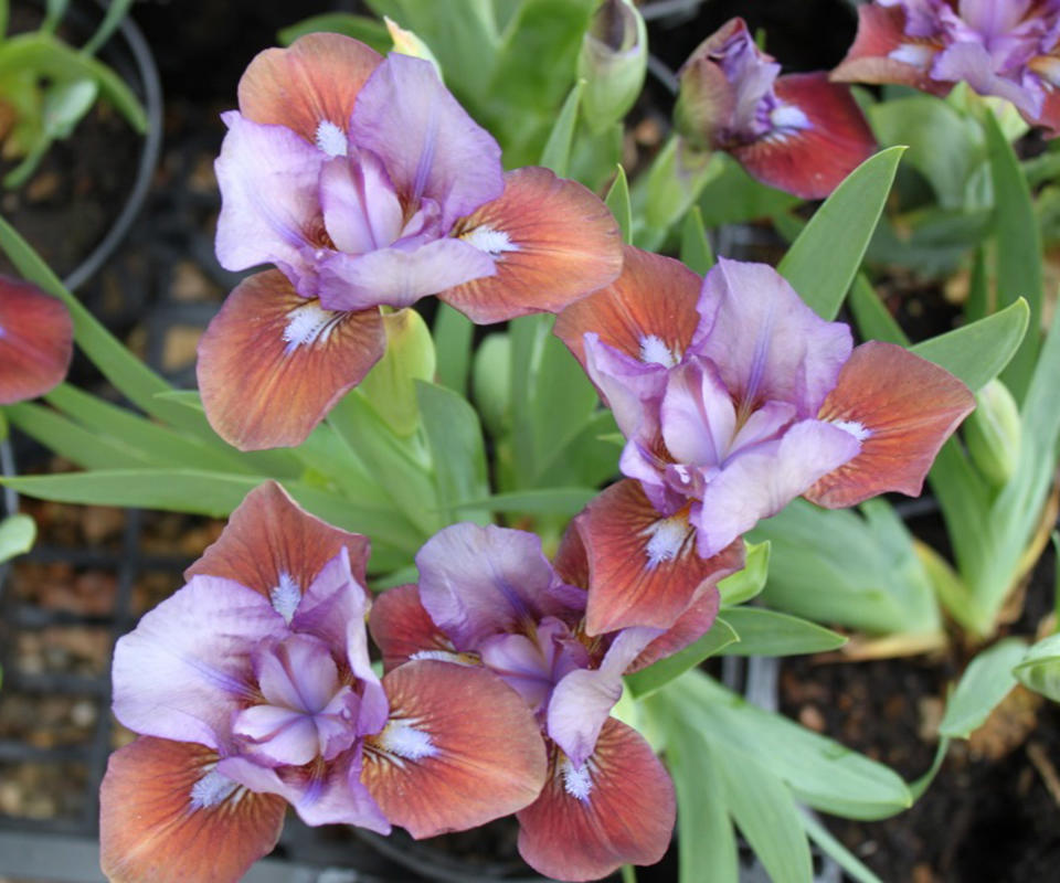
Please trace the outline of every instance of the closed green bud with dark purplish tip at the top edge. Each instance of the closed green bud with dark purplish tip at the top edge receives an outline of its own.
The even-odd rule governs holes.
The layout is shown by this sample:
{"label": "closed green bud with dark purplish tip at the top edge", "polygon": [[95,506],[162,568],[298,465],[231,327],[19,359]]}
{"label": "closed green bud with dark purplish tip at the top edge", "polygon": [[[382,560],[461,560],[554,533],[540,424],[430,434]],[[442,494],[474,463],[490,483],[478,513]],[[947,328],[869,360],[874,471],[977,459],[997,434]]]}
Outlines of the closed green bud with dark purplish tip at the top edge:
{"label": "closed green bud with dark purplish tip at the top edge", "polygon": [[598,134],[621,120],[644,87],[648,34],[632,0],[604,0],[593,13],[577,56],[585,81],[582,114]]}

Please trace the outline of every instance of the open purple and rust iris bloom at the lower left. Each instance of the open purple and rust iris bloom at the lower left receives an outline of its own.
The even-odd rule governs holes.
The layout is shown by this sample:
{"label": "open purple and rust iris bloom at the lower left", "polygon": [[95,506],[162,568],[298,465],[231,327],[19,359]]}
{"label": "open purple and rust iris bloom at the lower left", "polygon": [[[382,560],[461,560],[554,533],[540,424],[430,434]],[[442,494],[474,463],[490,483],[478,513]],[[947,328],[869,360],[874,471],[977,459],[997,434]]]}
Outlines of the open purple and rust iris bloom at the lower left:
{"label": "open purple and rust iris bloom at the lower left", "polygon": [[499,678],[436,660],[374,674],[368,554],[263,486],[118,641],[114,711],[140,736],[100,791],[112,880],[239,880],[287,804],[308,825],[420,838],[537,797],[544,746]]}

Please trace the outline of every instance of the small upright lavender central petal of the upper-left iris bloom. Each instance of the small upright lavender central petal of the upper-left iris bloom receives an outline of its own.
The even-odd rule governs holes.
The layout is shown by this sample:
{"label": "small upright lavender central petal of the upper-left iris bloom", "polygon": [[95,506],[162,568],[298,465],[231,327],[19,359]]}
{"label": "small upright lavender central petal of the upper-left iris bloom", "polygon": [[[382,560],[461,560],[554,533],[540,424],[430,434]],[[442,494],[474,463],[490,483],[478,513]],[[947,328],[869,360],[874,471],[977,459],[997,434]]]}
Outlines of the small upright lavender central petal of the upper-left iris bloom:
{"label": "small upright lavender central petal of the upper-left iris bloom", "polygon": [[368,150],[336,157],[320,173],[324,225],[340,252],[384,248],[401,235],[404,210],[382,162]]}

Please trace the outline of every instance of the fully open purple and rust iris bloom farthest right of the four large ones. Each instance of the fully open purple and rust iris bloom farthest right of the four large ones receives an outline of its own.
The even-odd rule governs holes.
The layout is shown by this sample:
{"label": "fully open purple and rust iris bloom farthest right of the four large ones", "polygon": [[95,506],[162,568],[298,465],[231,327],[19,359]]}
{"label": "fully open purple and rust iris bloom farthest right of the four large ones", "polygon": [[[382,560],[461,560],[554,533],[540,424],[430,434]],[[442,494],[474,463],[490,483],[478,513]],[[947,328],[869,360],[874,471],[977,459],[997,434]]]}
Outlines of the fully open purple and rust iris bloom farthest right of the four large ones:
{"label": "fully open purple and rust iris bloom farthest right of the four large ones", "polygon": [[739,539],[799,494],[827,508],[918,494],[975,406],[901,347],[854,349],[764,264],[704,279],[628,248],[619,279],[555,332],[626,437],[627,480],[590,503],[587,630],[669,627]]}

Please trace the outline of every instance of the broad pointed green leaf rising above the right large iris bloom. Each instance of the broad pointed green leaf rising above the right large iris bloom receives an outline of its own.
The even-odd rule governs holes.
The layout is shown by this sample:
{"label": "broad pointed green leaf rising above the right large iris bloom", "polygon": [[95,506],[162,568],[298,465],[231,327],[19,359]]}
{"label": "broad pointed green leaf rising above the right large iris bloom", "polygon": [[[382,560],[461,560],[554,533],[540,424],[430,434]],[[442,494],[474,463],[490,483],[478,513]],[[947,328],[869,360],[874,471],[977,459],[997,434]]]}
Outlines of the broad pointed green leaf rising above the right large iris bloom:
{"label": "broad pointed green leaf rising above the right large iris bloom", "polygon": [[816,211],[777,267],[825,319],[834,319],[839,312],[904,150],[881,150],[855,169]]}

